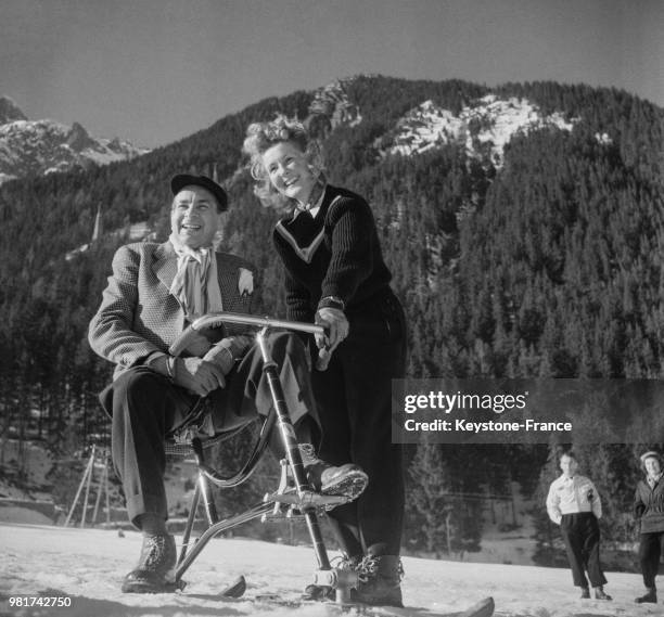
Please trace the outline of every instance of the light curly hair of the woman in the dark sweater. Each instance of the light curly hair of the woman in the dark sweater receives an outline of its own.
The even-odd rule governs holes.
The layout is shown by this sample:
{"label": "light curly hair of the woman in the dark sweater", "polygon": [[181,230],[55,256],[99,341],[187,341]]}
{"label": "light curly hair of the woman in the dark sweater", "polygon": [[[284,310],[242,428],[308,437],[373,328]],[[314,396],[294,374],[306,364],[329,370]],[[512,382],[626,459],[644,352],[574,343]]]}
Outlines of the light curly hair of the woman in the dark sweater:
{"label": "light curly hair of the woman in the dark sweater", "polygon": [[277,210],[290,210],[294,201],[283,196],[270,182],[270,178],[263,165],[263,154],[278,143],[289,141],[294,143],[304,153],[314,176],[324,182],[323,160],[318,142],[312,139],[304,125],[278,115],[269,123],[254,123],[246,129],[246,138],[242,150],[250,156],[252,178],[256,181],[254,194],[264,206]]}

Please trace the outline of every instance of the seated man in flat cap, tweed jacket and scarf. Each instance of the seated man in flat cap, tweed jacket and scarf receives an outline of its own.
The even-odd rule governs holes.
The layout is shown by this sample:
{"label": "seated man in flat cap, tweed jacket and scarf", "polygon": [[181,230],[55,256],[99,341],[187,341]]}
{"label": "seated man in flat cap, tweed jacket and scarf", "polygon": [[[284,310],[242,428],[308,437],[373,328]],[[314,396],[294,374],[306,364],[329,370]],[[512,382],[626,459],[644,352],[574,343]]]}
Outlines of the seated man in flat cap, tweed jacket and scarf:
{"label": "seated man in flat cap, tweed jacket and scarf", "polygon": [[[202,397],[210,410],[205,424],[209,434],[248,423],[272,404],[260,352],[244,326],[229,325],[220,339],[199,335],[184,357],[169,352],[197,317],[250,312],[257,296],[254,267],[213,247],[228,207],[221,187],[189,175],[174,177],[170,187],[168,242],[117,250],[89,329],[92,349],[116,364],[114,381],[100,400],[113,417],[113,462],[128,515],[143,534],[140,561],[125,577],[125,592],[159,592],[173,582],[176,548],[166,531],[165,437]],[[305,445],[309,481],[317,490],[355,497],[366,474],[356,465],[331,467],[312,453],[310,444],[319,430],[303,343],[288,333],[268,343],[298,441]],[[283,451],[278,436],[271,446]]]}

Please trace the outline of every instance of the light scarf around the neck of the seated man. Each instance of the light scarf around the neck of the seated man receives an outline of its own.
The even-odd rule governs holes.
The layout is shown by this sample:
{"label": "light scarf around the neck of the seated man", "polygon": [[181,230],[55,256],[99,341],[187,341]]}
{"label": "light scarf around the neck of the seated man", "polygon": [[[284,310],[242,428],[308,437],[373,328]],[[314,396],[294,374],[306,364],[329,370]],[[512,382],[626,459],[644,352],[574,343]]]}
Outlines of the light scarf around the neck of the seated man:
{"label": "light scarf around the neck of the seated man", "polygon": [[224,310],[215,249],[212,246],[190,248],[175,233],[168,240],[178,256],[178,272],[170,293],[184,307],[187,319],[193,321],[206,312]]}

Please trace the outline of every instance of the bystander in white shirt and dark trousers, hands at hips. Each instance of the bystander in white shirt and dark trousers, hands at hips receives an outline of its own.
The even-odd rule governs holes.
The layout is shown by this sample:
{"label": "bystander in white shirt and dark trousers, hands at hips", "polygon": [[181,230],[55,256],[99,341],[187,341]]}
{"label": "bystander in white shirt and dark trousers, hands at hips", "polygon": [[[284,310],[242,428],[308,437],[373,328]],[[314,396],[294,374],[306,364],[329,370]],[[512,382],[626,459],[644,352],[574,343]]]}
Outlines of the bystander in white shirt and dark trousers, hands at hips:
{"label": "bystander in white shirt and dark trousers, hands at hips", "polygon": [[604,593],[606,579],[599,558],[600,530],[598,520],[602,516],[602,504],[595,485],[578,475],[578,462],[573,452],[560,458],[562,475],[551,483],[547,497],[549,518],[560,525],[565,542],[567,560],[572,568],[574,584],[582,588],[582,599],[590,597],[590,584],[597,600],[611,600]]}

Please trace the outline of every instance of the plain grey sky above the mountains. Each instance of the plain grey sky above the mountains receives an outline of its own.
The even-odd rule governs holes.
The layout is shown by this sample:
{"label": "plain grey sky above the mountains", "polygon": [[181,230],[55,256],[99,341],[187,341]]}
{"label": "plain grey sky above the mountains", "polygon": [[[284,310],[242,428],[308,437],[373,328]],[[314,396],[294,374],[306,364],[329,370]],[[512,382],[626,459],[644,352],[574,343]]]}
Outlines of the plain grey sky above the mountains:
{"label": "plain grey sky above the mountains", "polygon": [[625,89],[664,107],[663,0],[0,0],[0,95],[154,147],[358,74]]}

